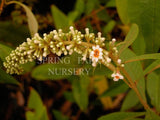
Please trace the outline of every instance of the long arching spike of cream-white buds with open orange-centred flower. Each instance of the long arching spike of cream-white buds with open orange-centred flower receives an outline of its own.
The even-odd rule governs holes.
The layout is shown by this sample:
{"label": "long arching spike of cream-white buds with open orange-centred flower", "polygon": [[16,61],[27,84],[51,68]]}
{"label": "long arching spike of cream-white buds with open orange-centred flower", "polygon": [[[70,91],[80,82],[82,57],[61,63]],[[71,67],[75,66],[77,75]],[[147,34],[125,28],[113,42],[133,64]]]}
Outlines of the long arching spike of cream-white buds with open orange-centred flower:
{"label": "long arching spike of cream-white buds with open orange-centred flower", "polygon": [[[105,49],[105,38],[98,32],[97,36],[94,33],[90,33],[89,29],[85,29],[85,34],[75,30],[72,26],[68,33],[64,33],[62,29],[53,30],[49,34],[43,34],[40,37],[38,33],[33,38],[27,38],[27,41],[22,43],[19,47],[11,52],[6,57],[4,67],[6,72],[10,74],[20,74],[23,69],[21,64],[38,59],[42,61],[43,57],[53,53],[58,56],[71,55],[73,52],[77,52],[82,55],[82,60],[87,58],[92,60],[92,66],[96,67],[97,63],[103,62],[106,66],[111,63],[110,54],[116,55],[117,48],[115,47],[115,39],[111,42],[111,52]],[[117,66],[122,66],[121,60],[117,59]],[[115,80],[118,80],[117,75],[113,75]],[[122,77],[119,77],[122,79]]]}

